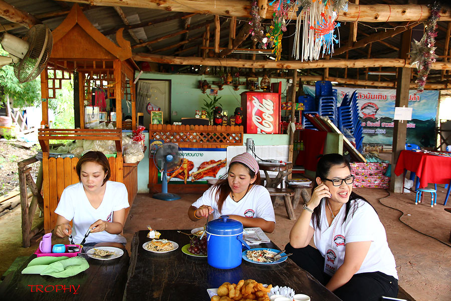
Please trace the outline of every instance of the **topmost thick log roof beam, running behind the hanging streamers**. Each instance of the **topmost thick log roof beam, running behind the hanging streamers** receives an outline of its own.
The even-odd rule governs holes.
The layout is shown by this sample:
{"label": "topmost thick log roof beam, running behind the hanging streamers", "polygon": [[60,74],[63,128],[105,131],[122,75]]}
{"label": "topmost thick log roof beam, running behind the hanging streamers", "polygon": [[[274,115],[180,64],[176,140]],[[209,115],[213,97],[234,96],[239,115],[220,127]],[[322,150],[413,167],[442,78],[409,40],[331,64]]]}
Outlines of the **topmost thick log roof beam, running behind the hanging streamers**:
{"label": "topmost thick log roof beam, running behind the hanging streamers", "polygon": [[[62,0],[58,0],[62,1]],[[211,14],[228,17],[251,18],[251,3],[248,0],[65,0],[92,6],[120,6],[135,7],[152,10],[165,10],[168,12],[185,12],[197,14]],[[275,6],[268,5],[265,19],[273,19]],[[296,8],[297,9],[297,8]],[[288,12],[293,20],[296,14],[291,9]],[[349,4],[347,12],[340,12],[337,21],[358,22],[424,22],[429,18],[430,10],[426,5],[355,5]],[[451,11],[442,8],[440,21],[451,21]]]}

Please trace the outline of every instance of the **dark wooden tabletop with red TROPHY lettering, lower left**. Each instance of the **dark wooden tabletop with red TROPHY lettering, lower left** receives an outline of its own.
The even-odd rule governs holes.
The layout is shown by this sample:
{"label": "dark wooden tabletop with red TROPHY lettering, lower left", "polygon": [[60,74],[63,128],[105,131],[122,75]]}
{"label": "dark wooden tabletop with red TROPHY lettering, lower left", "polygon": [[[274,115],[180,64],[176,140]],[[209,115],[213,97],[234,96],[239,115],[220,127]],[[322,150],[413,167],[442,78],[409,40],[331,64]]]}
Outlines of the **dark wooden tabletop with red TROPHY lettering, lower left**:
{"label": "dark wooden tabletop with red TROPHY lettering, lower left", "polygon": [[31,255],[0,283],[1,300],[122,300],[130,260],[126,250],[121,257],[111,260],[86,256],[89,268],[67,278],[22,274],[22,270],[34,258],[36,255]]}

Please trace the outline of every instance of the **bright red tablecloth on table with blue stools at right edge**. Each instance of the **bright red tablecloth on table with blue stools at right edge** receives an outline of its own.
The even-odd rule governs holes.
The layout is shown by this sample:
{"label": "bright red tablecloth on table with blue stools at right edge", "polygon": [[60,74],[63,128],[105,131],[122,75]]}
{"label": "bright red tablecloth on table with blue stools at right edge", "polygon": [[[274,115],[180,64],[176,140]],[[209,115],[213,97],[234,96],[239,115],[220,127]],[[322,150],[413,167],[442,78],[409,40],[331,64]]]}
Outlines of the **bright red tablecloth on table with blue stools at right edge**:
{"label": "bright red tablecloth on table with blue stools at right edge", "polygon": [[413,171],[420,178],[419,187],[426,187],[428,183],[449,184],[451,157],[403,150],[399,154],[394,173],[399,176],[404,169]]}

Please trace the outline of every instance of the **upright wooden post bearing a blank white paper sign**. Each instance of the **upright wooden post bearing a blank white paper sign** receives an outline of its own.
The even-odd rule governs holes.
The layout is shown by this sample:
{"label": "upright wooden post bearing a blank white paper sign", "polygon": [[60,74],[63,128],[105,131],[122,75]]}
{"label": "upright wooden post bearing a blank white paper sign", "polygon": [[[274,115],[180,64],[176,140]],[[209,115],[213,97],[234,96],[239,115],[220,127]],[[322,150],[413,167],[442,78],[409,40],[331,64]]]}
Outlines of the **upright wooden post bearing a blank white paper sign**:
{"label": "upright wooden post bearing a blank white paper sign", "polygon": [[[401,49],[399,51],[399,57],[401,59],[408,58],[408,52],[410,49],[410,39],[412,35],[412,30],[405,31],[401,38]],[[395,107],[408,107],[409,106],[409,84],[410,84],[410,73],[409,68],[400,68],[396,79],[396,101]],[[407,122],[401,123],[399,120],[394,120],[393,127],[393,153],[391,158],[391,180],[390,180],[390,191],[402,192],[404,187],[404,174],[396,176],[394,174],[394,166],[399,157],[399,153],[405,149],[405,138],[407,132]]]}

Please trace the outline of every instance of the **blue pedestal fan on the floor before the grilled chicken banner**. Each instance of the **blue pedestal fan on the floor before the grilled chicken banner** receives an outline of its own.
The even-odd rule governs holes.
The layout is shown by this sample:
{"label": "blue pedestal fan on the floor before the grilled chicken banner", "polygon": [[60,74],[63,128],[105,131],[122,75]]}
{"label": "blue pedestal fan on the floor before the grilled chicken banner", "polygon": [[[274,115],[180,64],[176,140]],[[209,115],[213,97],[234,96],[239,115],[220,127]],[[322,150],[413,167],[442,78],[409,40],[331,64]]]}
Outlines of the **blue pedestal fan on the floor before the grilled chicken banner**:
{"label": "blue pedestal fan on the floor before the grilled chicken banner", "polygon": [[181,167],[182,150],[175,143],[163,143],[156,149],[153,163],[163,173],[163,179],[161,180],[161,192],[155,193],[152,197],[164,201],[178,200],[180,197],[177,194],[167,192],[167,173],[172,173]]}

